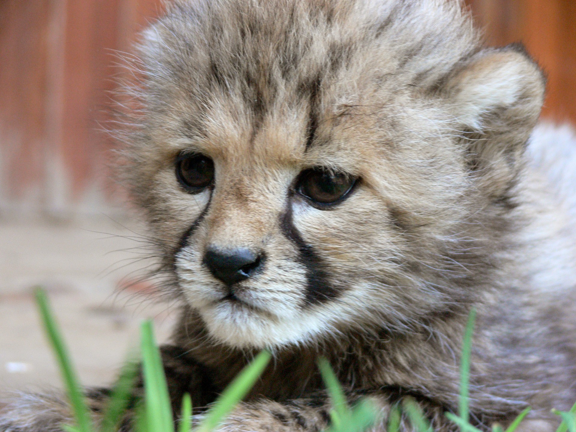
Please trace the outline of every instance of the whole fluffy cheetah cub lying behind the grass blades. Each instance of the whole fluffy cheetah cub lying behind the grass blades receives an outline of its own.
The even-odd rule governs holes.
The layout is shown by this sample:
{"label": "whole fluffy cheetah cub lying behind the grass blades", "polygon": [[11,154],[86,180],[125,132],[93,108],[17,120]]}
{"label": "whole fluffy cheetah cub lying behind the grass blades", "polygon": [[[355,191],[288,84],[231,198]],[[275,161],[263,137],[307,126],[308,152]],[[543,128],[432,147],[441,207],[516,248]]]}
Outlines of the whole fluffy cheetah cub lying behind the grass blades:
{"label": "whole fluffy cheetah cub lying behind the grass blades", "polygon": [[[576,176],[529,139],[544,78],[520,46],[484,48],[456,0],[180,0],[139,58],[123,166],[181,300],[175,409],[267,349],[222,431],[327,427],[320,356],[377,430],[406,396],[456,430],[474,307],[472,422],[531,406],[523,430],[555,430],[576,401]],[[68,415],[28,396],[0,429]]]}

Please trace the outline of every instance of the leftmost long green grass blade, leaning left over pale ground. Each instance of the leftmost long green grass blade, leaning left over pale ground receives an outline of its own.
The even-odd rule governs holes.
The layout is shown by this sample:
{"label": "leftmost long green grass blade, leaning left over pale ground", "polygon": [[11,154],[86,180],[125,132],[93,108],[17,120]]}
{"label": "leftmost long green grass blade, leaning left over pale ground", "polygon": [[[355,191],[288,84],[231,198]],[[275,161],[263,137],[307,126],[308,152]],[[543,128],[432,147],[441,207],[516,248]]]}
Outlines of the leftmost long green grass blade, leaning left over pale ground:
{"label": "leftmost long green grass blade, leaning left over pale ground", "polygon": [[52,345],[52,349],[54,350],[60,367],[60,373],[62,373],[62,378],[66,385],[66,391],[77,425],[74,429],[77,429],[78,432],[91,432],[93,430],[92,419],[90,419],[88,407],[86,406],[84,395],[82,394],[80,385],[78,384],[77,374],[70,361],[70,356],[62,338],[62,333],[52,315],[46,293],[43,289],[37,288],[35,296],[46,335]]}

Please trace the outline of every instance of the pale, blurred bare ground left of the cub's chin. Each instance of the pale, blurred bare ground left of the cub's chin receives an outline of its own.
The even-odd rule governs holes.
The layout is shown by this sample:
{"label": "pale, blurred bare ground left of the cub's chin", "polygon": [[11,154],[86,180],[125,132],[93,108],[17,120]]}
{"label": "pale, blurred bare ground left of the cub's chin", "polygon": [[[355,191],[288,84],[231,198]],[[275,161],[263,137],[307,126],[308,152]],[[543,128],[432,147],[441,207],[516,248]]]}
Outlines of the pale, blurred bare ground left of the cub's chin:
{"label": "pale, blurred bare ground left of the cub's chin", "polygon": [[[98,219],[76,223],[0,221],[0,392],[60,386],[40,327],[33,287],[46,288],[82,384],[113,380],[139,324],[151,318],[157,339],[175,320],[168,303],[150,301],[150,286],[117,287],[146,262],[138,235]],[[133,273],[137,271],[136,273]]]}

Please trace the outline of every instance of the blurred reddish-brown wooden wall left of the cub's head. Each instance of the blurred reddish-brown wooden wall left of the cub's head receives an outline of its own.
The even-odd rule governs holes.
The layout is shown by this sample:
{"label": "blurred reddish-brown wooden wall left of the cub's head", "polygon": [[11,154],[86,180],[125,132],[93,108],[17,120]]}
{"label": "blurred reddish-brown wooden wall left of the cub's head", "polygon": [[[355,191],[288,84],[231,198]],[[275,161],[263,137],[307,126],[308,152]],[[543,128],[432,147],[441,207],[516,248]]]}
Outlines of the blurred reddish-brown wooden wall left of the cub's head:
{"label": "blurred reddish-brown wooden wall left of the cub's head", "polygon": [[113,51],[159,12],[160,0],[0,1],[0,210],[105,206]]}

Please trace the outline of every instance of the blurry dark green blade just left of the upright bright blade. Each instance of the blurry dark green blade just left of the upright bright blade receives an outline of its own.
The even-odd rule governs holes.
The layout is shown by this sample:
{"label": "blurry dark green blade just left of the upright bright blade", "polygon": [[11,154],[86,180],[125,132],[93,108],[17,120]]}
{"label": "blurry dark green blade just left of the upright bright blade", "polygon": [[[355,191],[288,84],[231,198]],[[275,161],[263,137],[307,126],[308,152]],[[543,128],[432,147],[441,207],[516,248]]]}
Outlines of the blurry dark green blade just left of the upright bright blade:
{"label": "blurry dark green blade just left of the upright bright blade", "polygon": [[112,395],[104,411],[100,432],[116,432],[122,416],[132,398],[132,389],[138,377],[139,366],[137,362],[124,363],[120,377],[112,389]]}

